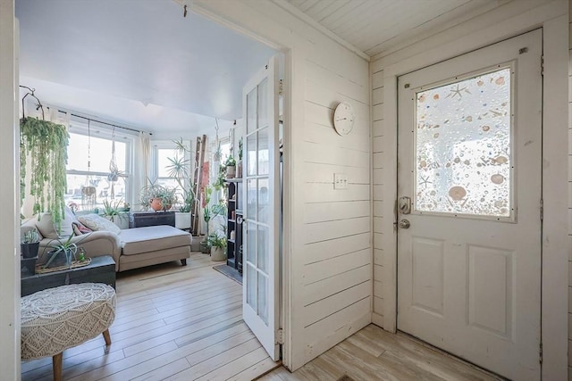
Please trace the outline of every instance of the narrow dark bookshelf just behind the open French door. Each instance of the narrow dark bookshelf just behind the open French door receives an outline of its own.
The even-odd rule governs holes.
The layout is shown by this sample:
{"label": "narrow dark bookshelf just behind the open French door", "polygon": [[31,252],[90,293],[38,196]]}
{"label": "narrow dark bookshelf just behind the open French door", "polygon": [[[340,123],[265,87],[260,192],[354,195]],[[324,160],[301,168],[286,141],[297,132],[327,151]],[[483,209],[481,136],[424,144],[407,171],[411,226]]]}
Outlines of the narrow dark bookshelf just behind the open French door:
{"label": "narrow dark bookshelf just behind the open French door", "polygon": [[241,178],[227,179],[226,264],[242,273],[242,210],[240,209]]}

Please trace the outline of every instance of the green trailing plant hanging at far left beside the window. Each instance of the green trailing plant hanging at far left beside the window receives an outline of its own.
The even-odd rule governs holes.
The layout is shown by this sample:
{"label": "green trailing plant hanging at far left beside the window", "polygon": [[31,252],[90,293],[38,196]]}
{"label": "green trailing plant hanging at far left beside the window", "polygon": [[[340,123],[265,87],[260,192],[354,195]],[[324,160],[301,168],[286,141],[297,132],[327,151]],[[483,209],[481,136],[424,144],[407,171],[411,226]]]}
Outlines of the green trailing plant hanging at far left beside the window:
{"label": "green trailing plant hanging at far left beside the window", "polygon": [[[20,202],[27,194],[34,196],[34,214],[50,211],[58,230],[65,208],[69,137],[61,124],[30,117],[20,120]],[[29,184],[26,184],[27,160],[31,171]]]}

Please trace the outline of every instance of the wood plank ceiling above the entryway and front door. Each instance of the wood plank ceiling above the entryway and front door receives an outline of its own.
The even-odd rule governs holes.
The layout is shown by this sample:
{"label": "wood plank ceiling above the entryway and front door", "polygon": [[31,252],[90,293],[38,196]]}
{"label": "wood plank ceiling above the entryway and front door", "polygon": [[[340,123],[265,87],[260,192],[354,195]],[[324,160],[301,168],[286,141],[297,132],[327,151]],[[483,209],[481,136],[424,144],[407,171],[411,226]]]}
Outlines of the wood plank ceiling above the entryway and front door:
{"label": "wood plank ceiling above the entryway and front door", "polygon": [[288,0],[367,56],[450,28],[507,0]]}

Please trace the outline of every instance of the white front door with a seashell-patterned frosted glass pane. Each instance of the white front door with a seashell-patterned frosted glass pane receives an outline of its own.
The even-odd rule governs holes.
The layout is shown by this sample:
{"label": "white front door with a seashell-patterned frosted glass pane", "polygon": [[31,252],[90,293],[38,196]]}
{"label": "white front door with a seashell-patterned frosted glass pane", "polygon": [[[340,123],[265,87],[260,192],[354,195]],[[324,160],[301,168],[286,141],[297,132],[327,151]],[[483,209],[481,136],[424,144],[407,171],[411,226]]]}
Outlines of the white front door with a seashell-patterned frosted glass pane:
{"label": "white front door with a seashell-patterned frosted glass pane", "polygon": [[540,379],[542,32],[399,79],[398,329]]}

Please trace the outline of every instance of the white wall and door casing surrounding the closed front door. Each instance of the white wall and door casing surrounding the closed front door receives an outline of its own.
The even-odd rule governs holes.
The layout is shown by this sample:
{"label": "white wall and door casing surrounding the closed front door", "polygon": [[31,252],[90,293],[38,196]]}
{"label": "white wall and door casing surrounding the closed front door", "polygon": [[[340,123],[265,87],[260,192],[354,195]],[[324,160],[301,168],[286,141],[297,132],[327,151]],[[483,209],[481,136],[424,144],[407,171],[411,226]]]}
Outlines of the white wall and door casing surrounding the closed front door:
{"label": "white wall and door casing surrounding the closed front door", "polygon": [[[569,228],[572,225],[572,129],[566,120],[566,82],[562,80],[568,74],[568,82],[572,85],[572,50],[566,57],[566,48],[572,47],[566,33],[568,3],[568,0],[519,0],[499,4],[494,11],[430,34],[423,41],[392,54],[379,54],[371,62],[373,87],[376,82],[381,86],[376,75],[383,78],[383,97],[376,97],[374,90],[372,93],[374,136],[383,135],[383,153],[377,157],[374,153],[373,163],[374,219],[378,222],[374,224],[374,300],[377,304],[382,303],[383,308],[374,308],[373,321],[392,331],[396,328],[397,316],[396,243],[391,224],[396,197],[397,77],[528,30],[543,28],[543,379],[566,379],[567,365],[572,364],[572,356],[568,361],[566,356],[567,338],[568,348],[572,349],[572,335],[568,334],[572,329],[572,308],[567,305],[568,302],[572,306],[572,230]],[[569,64],[568,72],[566,63]],[[568,86],[568,101],[572,102],[570,88],[572,86]],[[568,113],[572,116],[572,103],[568,103]],[[382,122],[376,126],[378,119]],[[382,132],[376,132],[378,128]],[[568,157],[565,154],[567,129]],[[568,221],[567,200],[562,202],[561,197],[566,193],[567,168]],[[380,189],[375,189],[377,169],[381,169]],[[378,213],[385,219],[377,219]],[[382,258],[381,265],[377,265],[378,257]],[[567,320],[570,327],[566,327]],[[568,374],[572,380],[569,367]]]}

